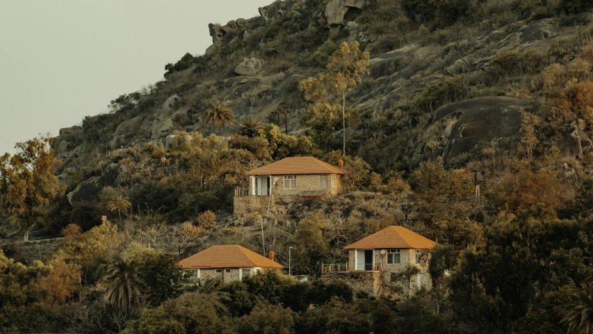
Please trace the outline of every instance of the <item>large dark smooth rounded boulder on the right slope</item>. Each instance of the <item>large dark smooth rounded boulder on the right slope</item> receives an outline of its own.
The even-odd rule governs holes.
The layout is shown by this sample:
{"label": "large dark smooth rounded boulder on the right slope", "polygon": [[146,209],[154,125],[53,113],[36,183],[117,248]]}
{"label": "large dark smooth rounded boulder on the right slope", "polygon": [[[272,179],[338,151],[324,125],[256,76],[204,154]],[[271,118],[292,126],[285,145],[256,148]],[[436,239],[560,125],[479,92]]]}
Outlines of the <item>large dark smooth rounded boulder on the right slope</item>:
{"label": "large dark smooth rounded boulder on the right slope", "polygon": [[512,138],[517,137],[521,128],[519,109],[528,105],[529,100],[496,96],[478,97],[441,106],[434,113],[433,123],[458,118],[452,128],[446,128],[442,136],[445,137],[443,163],[451,164],[455,157],[469,152],[478,143],[492,140],[512,143]]}

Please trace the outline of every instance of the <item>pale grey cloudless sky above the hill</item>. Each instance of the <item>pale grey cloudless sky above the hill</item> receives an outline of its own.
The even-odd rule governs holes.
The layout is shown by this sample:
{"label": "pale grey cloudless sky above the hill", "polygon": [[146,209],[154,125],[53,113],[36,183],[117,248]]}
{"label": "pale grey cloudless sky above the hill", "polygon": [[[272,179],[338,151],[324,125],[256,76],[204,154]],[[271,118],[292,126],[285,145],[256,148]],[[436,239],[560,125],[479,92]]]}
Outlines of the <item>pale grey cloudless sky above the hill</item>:
{"label": "pale grey cloudless sky above the hill", "polygon": [[104,113],[273,0],[0,0],[0,154]]}

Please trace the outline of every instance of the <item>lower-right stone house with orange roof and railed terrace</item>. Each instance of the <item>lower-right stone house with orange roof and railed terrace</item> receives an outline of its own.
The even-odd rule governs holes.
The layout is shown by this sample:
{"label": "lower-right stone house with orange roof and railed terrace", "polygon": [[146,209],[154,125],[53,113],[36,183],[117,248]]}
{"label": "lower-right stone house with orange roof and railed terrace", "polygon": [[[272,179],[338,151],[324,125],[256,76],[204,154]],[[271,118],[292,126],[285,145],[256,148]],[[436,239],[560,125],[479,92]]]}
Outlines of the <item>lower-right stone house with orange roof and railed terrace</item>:
{"label": "lower-right stone house with orange roof and railed terrace", "polygon": [[403,226],[389,226],[346,246],[347,263],[323,264],[322,279],[346,280],[355,291],[373,296],[430,290],[428,261],[434,246],[434,241]]}

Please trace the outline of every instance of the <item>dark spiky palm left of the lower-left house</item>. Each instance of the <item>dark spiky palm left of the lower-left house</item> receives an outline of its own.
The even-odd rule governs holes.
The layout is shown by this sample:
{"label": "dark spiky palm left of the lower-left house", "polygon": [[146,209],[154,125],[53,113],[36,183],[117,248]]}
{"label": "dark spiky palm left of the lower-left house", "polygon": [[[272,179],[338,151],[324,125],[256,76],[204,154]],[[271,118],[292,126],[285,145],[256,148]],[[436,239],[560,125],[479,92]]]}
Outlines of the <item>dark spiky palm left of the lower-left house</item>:
{"label": "dark spiky palm left of the lower-left house", "polygon": [[107,287],[104,299],[122,310],[140,305],[146,292],[146,285],[138,274],[138,263],[135,260],[120,258],[111,262],[102,281]]}

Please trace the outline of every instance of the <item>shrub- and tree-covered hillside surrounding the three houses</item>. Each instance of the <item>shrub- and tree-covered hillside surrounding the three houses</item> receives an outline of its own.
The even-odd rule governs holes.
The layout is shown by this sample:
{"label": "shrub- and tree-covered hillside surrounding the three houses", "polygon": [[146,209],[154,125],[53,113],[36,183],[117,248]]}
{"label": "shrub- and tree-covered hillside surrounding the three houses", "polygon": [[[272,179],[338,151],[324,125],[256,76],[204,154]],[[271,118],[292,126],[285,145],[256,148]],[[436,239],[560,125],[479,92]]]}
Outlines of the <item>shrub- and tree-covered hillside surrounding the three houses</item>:
{"label": "shrub- and tree-covered hillside surrounding the three houses", "polygon": [[[589,1],[372,0],[355,19],[360,31],[331,36],[318,16],[323,6],[308,1],[300,15],[251,19],[248,29],[223,36],[218,53],[168,64],[165,81],[117,97],[111,113],[85,118],[81,129],[56,138],[58,157],[79,148],[80,156],[66,154],[62,166],[47,159],[54,154],[47,138],[0,159],[3,237],[13,232],[10,223],[23,230],[41,223],[37,237],[64,237],[42,262],[27,258],[23,244],[1,245],[2,331],[590,328],[591,318],[580,316],[590,315],[593,279]],[[348,95],[323,90],[330,100],[309,103],[300,83],[322,73],[352,36],[371,53],[370,73]],[[261,74],[236,77],[236,64],[252,57],[265,61]],[[451,155],[443,134],[461,118],[437,118],[437,109],[503,95],[527,100],[517,111],[517,134]],[[342,100],[319,113],[334,97]],[[294,111],[290,134],[269,124],[277,108]],[[209,109],[221,117],[205,117],[213,116]],[[327,122],[316,119],[320,114]],[[168,149],[145,126],[163,120],[177,127]],[[136,126],[123,132],[126,122]],[[230,138],[207,136],[212,132]],[[19,157],[26,153],[24,168]],[[257,210],[231,215],[234,188],[246,186],[247,170],[298,155],[330,164],[343,159],[346,193],[277,205],[269,217]],[[54,168],[69,196],[52,186]],[[35,184],[47,189],[23,190]],[[34,219],[22,216],[25,205]],[[343,262],[343,246],[405,225],[439,241],[430,260],[434,289],[391,300],[273,273],[229,285],[184,280],[177,260],[211,244],[259,252],[262,219],[266,249],[287,264],[293,246],[293,272],[311,278],[321,263]]]}

